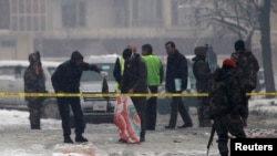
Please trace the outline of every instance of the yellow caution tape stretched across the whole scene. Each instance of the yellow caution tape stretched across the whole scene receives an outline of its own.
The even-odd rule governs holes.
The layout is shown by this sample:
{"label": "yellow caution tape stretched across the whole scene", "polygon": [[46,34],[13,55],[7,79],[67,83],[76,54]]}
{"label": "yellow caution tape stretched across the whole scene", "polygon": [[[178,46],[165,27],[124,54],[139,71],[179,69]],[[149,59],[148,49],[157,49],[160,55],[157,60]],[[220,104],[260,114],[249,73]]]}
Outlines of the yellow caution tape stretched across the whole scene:
{"label": "yellow caution tape stretched across the whole scene", "polygon": [[[119,95],[125,96],[156,96],[156,97],[174,97],[174,96],[184,96],[184,97],[198,97],[198,96],[208,96],[208,93],[134,93],[134,94],[119,94],[119,93],[13,93],[13,92],[0,92],[0,96],[14,97],[14,96],[47,96],[47,97],[117,97]],[[277,92],[273,93],[247,93],[252,96],[277,96]]]}

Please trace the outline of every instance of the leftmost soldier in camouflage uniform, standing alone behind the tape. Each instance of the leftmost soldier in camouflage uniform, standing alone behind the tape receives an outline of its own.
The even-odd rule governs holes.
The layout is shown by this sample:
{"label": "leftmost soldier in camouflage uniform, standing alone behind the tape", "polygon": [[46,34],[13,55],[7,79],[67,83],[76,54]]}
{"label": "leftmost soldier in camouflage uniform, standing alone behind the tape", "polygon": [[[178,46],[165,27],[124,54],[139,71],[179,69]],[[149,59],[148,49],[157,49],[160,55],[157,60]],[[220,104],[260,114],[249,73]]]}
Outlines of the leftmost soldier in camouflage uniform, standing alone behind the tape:
{"label": "leftmost soldier in camouflage uniform, standing alone behind the tape", "polygon": [[[31,53],[29,55],[30,65],[24,72],[24,92],[25,93],[44,93],[45,75],[41,69],[40,53]],[[40,129],[41,106],[43,97],[25,96],[30,112],[31,129]]]}

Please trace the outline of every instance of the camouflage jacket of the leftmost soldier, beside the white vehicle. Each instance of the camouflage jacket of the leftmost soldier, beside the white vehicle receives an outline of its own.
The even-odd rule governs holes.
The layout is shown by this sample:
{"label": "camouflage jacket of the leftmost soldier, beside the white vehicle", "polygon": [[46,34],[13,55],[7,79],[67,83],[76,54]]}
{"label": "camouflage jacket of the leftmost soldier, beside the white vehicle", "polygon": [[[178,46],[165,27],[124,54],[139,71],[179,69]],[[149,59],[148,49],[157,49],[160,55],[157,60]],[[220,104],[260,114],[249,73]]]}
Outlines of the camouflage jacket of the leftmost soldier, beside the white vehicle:
{"label": "camouflage jacket of the leftmost soldier, beside the white vehicle", "polygon": [[[25,93],[44,93],[45,92],[45,75],[43,70],[39,75],[34,73],[33,66],[30,65],[24,72],[24,92]],[[32,101],[38,97],[25,96],[25,101]]]}

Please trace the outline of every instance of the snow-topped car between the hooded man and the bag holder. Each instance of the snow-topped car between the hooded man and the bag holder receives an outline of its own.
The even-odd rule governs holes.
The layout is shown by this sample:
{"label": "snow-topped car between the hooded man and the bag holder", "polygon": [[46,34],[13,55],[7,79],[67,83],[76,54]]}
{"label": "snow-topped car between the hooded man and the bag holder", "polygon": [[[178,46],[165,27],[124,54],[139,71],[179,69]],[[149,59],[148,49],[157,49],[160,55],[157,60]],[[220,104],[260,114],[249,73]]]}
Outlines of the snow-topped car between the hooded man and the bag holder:
{"label": "snow-topped car between the hooded man and the bag holder", "polygon": [[[106,82],[109,94],[115,95],[115,80],[113,77],[114,64],[117,54],[89,55],[84,62],[98,65],[101,70],[107,72]],[[80,91],[83,94],[81,106],[86,123],[113,123],[113,113],[116,104],[115,96],[107,98],[99,96],[102,94],[103,77],[101,74],[92,71],[84,71],[81,77]],[[88,96],[86,96],[88,95]]]}

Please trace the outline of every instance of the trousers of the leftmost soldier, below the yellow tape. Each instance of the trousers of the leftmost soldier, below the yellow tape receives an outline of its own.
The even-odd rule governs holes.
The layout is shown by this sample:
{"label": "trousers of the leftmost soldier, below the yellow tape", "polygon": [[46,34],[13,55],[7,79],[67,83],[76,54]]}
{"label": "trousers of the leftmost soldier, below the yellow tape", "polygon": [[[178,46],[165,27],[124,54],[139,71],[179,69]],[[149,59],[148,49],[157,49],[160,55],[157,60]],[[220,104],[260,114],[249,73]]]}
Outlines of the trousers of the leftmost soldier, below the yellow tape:
{"label": "trousers of the leftmost soldier, below the yellow tape", "polygon": [[39,100],[31,100],[28,102],[28,107],[31,129],[40,129],[41,102]]}

